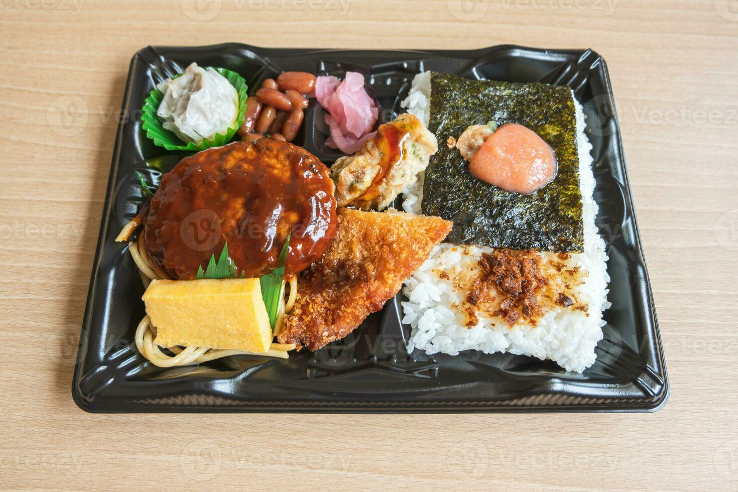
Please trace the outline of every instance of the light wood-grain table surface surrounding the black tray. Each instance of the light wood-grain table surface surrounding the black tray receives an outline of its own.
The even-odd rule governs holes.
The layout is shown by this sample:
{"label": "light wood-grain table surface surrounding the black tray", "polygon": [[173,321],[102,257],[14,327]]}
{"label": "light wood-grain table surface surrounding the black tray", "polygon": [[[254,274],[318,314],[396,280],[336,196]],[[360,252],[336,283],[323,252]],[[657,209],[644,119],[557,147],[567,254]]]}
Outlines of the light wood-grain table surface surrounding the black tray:
{"label": "light wood-grain table surface surrounding the black tray", "polygon": [[[2,488],[738,488],[737,1],[1,0],[0,40]],[[224,41],[603,55],[672,384],[666,406],[636,415],[78,409],[70,384],[128,63],[147,44]],[[80,98],[78,118],[60,119]]]}

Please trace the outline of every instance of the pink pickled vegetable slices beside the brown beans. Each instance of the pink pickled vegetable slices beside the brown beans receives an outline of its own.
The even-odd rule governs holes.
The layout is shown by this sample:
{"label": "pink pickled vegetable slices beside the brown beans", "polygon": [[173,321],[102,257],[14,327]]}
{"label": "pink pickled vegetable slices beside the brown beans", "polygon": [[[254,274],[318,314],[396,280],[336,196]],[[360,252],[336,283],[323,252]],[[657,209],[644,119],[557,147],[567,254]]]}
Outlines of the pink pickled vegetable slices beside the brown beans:
{"label": "pink pickled vegetable slices beside the brown beans", "polygon": [[315,97],[328,114],[325,124],[331,130],[326,143],[343,153],[356,153],[374,136],[379,109],[364,89],[364,76],[346,72],[343,82],[337,77],[317,77]]}

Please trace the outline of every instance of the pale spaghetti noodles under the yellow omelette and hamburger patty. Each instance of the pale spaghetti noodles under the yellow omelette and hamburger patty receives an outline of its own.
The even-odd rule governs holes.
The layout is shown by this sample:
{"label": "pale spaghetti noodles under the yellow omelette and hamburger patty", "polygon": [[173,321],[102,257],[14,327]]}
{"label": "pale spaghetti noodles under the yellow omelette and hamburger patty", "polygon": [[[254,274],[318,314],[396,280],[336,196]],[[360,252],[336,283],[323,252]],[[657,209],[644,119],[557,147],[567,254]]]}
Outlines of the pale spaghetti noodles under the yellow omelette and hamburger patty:
{"label": "pale spaghetti noodles under the yellow omelette and hamburger patty", "polygon": [[[116,240],[124,241],[137,229],[140,225],[140,221],[136,218],[129,222],[123,227]],[[131,257],[134,259],[134,263],[138,267],[141,280],[144,283],[144,287],[148,288],[151,280],[162,280],[169,279],[169,275],[162,271],[159,266],[156,266],[151,260],[148,259],[146,254],[146,243],[140,234],[138,240],[128,242],[128,251],[131,252]],[[282,328],[284,322],[284,316],[289,311],[292,311],[294,306],[294,300],[297,297],[297,276],[291,275],[288,280],[282,282],[282,288],[289,285],[289,294],[285,301],[284,296],[280,298],[280,304],[277,311],[277,320],[275,322],[274,334],[277,336]],[[187,366],[190,364],[200,364],[202,362],[213,361],[216,358],[237,356],[237,355],[258,355],[258,356],[269,356],[278,358],[288,358],[287,353],[289,350],[294,350],[294,344],[279,344],[272,343],[272,346],[266,352],[254,353],[246,352],[245,350],[235,349],[210,349],[207,347],[167,347],[167,350],[173,355],[168,355],[162,352],[162,349],[154,343],[156,338],[156,327],[151,325],[151,319],[148,314],[143,317],[139,322],[138,328],[136,328],[136,347],[142,356],[148,359],[152,364],[159,367],[176,367],[176,366]]]}

